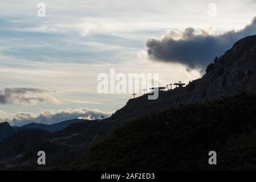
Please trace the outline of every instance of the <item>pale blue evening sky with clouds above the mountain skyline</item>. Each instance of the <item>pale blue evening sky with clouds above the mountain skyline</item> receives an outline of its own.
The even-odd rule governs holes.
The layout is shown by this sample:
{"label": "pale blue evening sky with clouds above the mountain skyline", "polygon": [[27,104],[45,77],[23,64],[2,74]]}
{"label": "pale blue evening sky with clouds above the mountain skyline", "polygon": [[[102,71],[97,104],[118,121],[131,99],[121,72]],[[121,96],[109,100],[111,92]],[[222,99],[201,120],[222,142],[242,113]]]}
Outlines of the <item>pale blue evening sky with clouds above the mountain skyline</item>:
{"label": "pale blue evening sky with clouds above the mountain skyline", "polygon": [[256,34],[255,9],[251,0],[1,0],[0,122],[107,117],[133,97],[97,92],[110,69],[158,73],[163,86],[200,78],[215,56]]}

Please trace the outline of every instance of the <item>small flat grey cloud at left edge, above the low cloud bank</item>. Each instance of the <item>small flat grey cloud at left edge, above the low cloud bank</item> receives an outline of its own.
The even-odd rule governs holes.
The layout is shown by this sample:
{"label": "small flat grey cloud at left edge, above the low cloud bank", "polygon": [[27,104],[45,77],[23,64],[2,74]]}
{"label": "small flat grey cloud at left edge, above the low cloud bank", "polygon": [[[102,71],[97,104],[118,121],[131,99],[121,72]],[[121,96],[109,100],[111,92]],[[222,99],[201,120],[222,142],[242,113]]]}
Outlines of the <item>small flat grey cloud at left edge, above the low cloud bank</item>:
{"label": "small flat grey cloud at left edge, above the low cloud bank", "polygon": [[46,89],[38,88],[4,88],[0,90],[0,104],[35,104],[36,102],[57,102],[50,96],[33,96],[35,94],[44,94],[50,92]]}

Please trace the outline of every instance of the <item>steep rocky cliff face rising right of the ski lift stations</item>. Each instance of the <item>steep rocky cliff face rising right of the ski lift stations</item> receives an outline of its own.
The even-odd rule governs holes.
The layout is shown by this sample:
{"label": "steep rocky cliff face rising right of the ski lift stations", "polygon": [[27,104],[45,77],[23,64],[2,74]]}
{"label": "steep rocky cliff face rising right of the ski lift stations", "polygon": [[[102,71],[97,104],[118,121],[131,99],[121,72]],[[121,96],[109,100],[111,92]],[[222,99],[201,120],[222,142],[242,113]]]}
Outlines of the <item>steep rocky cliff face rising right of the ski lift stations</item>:
{"label": "steep rocky cliff face rising right of the ski lift stations", "polygon": [[[200,80],[192,82],[195,84],[192,97],[212,100],[242,91],[255,92],[255,73],[256,36],[249,36],[239,40],[223,56],[214,60]],[[200,92],[203,93],[202,97]]]}

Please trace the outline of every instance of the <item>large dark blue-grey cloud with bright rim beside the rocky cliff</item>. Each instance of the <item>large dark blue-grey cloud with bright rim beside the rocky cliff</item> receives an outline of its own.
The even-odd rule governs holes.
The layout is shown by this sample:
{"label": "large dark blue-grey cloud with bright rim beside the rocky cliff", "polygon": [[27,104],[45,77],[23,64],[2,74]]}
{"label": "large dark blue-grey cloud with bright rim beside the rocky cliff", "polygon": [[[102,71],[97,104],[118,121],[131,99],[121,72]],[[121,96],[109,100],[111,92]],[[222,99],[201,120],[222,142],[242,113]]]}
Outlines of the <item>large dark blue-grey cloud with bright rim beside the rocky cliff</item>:
{"label": "large dark blue-grey cloud with bright rim beside the rocky cliff", "polygon": [[[189,68],[205,68],[214,57],[221,56],[239,39],[256,34],[256,18],[240,31],[229,31],[221,35],[209,35],[201,30],[195,34],[194,28],[186,28],[179,34],[169,31],[161,39],[147,40],[147,53],[150,59],[170,63],[181,63]],[[180,36],[180,39],[175,39]]]}

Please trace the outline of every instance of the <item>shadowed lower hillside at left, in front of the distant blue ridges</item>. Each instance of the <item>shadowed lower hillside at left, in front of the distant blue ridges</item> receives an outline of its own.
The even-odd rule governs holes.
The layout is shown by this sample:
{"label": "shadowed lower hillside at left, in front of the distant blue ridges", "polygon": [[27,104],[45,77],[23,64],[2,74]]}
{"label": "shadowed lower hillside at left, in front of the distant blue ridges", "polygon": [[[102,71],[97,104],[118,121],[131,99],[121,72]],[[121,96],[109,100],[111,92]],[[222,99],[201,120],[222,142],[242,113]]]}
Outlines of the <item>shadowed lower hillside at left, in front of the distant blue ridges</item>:
{"label": "shadowed lower hillside at left, in front of the distant blue ridges", "polygon": [[40,150],[47,154],[47,167],[74,162],[117,125],[116,122],[84,121],[52,133],[41,129],[20,130],[0,143],[0,170],[35,169]]}

